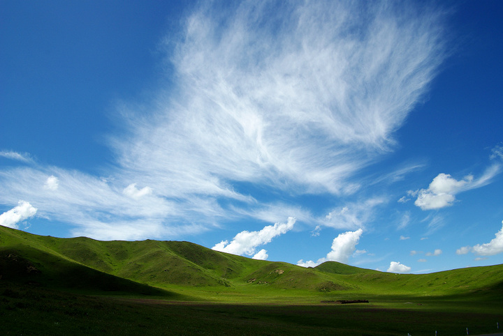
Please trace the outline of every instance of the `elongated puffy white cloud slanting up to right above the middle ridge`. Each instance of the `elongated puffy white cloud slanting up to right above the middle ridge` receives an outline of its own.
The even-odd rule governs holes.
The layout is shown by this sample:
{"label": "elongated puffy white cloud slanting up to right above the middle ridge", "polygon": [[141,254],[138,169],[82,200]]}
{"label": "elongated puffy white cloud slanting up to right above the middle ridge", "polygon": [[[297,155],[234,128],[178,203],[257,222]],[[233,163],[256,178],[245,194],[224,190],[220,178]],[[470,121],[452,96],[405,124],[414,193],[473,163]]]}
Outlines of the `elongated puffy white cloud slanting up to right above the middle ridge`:
{"label": "elongated puffy white cloud slanting up to right above the middle ridge", "polygon": [[217,245],[214,245],[212,249],[220,252],[238,255],[247,254],[251,256],[255,254],[256,247],[270,243],[272,238],[285,234],[293,229],[293,224],[295,224],[295,222],[296,219],[294,217],[289,217],[286,223],[268,225],[260,231],[241,231],[239,234],[235,235],[230,243],[227,240],[223,240]]}

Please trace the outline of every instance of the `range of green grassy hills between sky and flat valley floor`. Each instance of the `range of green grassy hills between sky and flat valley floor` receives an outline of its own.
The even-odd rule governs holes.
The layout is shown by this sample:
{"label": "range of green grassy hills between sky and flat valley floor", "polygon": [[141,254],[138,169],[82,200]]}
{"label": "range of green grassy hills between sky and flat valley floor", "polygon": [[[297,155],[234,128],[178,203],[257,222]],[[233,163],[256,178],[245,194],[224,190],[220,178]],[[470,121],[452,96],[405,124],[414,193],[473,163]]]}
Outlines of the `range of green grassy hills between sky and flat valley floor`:
{"label": "range of green grassy hills between sky and flat valley floor", "polygon": [[180,241],[54,238],[0,227],[0,281],[173,296],[173,287],[502,296],[503,265],[396,275],[328,261],[315,268]]}

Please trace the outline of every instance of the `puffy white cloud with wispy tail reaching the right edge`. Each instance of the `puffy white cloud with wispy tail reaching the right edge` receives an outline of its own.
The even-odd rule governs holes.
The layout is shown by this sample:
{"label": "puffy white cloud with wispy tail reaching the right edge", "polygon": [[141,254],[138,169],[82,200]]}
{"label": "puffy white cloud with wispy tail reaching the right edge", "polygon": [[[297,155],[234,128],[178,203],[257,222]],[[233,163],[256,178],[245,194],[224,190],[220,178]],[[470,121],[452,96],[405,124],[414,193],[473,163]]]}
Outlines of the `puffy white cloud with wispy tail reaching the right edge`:
{"label": "puffy white cloud with wispy tail reaching the right edge", "polygon": [[452,206],[455,201],[455,195],[475,188],[483,187],[490,183],[490,180],[499,174],[500,165],[492,165],[484,174],[474,180],[474,176],[467,175],[458,181],[450,174],[438,174],[430,183],[428,189],[420,189],[409,194],[418,195],[414,204],[422,210],[432,210]]}

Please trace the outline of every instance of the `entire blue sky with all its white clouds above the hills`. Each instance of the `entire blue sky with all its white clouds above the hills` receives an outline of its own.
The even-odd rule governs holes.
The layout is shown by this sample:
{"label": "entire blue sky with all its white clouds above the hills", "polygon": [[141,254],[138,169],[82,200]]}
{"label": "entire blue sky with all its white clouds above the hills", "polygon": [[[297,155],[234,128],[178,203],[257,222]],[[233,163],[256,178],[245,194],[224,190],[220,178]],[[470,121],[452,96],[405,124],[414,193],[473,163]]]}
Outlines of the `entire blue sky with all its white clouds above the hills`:
{"label": "entire blue sky with all its white clouds above the hills", "polygon": [[503,263],[501,1],[1,1],[0,224]]}

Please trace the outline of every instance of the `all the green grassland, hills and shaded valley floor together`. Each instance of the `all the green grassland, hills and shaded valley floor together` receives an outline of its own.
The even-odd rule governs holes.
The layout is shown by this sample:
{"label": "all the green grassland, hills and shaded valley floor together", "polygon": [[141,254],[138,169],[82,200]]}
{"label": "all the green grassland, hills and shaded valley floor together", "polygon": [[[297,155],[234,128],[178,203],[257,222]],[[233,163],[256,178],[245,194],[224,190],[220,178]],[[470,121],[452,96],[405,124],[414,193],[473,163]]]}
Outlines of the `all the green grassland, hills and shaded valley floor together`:
{"label": "all the green grassland, hills and shaded valley floor together", "polygon": [[[503,265],[301,268],[188,242],[0,227],[0,276],[3,335],[476,335],[503,324]],[[354,299],[369,303],[321,303]]]}

